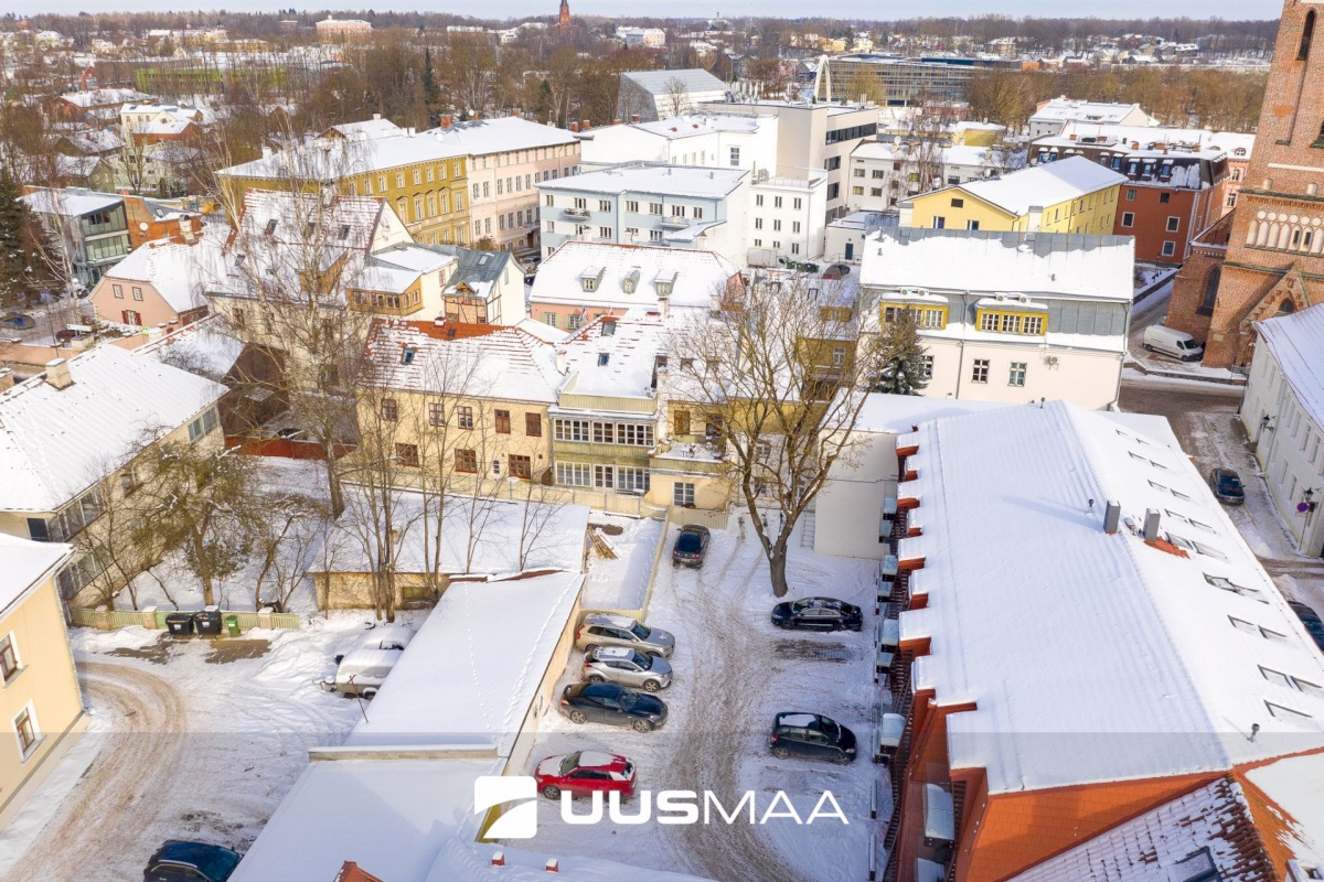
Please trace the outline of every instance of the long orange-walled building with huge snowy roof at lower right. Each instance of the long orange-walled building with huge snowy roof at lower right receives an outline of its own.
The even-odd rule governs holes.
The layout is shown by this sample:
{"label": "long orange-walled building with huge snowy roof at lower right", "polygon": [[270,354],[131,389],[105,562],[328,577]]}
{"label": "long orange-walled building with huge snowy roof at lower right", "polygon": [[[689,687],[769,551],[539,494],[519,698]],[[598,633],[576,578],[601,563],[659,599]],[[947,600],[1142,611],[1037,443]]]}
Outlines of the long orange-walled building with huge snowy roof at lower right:
{"label": "long orange-walled building with huge snowy roof at lower right", "polygon": [[[1019,878],[1324,747],[1324,659],[1162,421],[1022,405],[922,422],[896,452],[884,878]],[[1166,873],[1027,878],[1200,878],[1173,869],[1204,845],[1185,819],[1145,858]],[[1230,878],[1317,865],[1309,837],[1267,838],[1275,875]]]}

